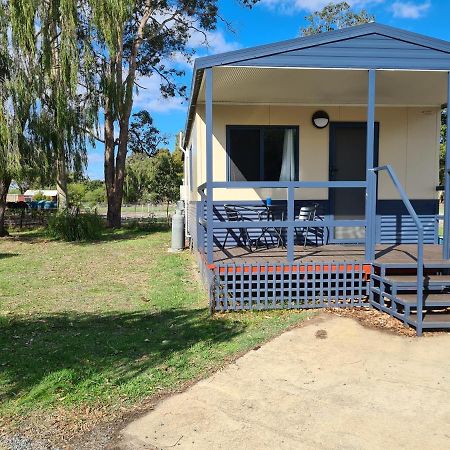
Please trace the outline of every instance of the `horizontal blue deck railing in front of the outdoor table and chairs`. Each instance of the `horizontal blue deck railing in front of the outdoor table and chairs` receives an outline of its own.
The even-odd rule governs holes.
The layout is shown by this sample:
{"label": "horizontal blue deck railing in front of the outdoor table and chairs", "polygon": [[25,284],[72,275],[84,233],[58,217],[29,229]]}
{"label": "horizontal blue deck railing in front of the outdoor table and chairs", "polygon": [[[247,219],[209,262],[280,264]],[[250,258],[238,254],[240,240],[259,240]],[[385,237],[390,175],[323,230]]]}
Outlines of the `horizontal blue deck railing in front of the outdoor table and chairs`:
{"label": "horizontal blue deck railing in front of the outdoor table and chairs", "polygon": [[[285,228],[287,230],[287,260],[289,263],[293,263],[295,259],[294,255],[294,234],[295,228],[299,227],[298,221],[295,220],[295,189],[299,188],[361,188],[367,189],[366,181],[214,181],[208,185],[204,183],[198,188],[201,198],[201,211],[202,216],[200,218],[200,226],[202,227],[201,245],[204,245],[204,232],[207,232],[207,248],[206,255],[208,257],[208,263],[212,263],[212,250],[213,250],[213,233],[214,229],[230,228],[230,223],[214,222],[212,208],[206,208],[206,220],[203,216],[205,210],[205,204],[208,200],[207,196],[211,194],[208,192],[208,187],[212,192],[214,189],[286,189],[287,190],[287,219],[286,220],[265,220],[265,221],[242,221],[232,222],[233,228]],[[211,227],[209,225],[211,224]],[[321,220],[321,221],[303,221],[301,227],[310,228],[324,228],[324,227],[366,227],[366,220]],[[203,251],[205,249],[203,248]]]}

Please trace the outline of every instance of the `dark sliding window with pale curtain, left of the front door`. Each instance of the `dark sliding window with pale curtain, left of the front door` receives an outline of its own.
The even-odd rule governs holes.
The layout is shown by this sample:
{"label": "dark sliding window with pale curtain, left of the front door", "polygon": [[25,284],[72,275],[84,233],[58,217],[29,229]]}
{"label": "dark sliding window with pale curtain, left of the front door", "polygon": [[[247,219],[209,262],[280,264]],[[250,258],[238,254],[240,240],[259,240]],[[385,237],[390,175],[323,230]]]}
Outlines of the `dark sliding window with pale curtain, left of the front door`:
{"label": "dark sliding window with pale curtain, left of the front door", "polygon": [[298,127],[227,128],[230,181],[298,180]]}

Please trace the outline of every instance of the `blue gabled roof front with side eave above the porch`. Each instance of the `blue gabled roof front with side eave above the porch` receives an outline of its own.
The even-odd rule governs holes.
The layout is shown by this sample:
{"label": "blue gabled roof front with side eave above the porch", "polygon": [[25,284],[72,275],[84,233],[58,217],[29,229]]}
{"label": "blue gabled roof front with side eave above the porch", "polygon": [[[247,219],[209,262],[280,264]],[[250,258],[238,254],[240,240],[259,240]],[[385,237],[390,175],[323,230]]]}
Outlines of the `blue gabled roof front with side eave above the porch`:
{"label": "blue gabled roof front with side eave above the porch", "polygon": [[198,58],[194,65],[186,141],[203,71],[217,66],[450,70],[450,42],[369,23]]}

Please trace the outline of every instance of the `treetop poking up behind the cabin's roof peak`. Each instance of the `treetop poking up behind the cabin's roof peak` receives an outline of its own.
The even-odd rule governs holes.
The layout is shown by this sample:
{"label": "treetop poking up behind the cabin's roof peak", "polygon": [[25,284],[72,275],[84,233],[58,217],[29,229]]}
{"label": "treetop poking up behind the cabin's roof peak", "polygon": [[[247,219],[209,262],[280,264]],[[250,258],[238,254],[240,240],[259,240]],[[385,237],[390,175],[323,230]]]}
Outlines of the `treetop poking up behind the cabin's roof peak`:
{"label": "treetop poking up behind the cabin's roof peak", "polygon": [[353,11],[347,2],[331,2],[320,11],[314,11],[305,17],[308,25],[300,29],[302,36],[339,30],[375,21],[375,16],[365,9]]}

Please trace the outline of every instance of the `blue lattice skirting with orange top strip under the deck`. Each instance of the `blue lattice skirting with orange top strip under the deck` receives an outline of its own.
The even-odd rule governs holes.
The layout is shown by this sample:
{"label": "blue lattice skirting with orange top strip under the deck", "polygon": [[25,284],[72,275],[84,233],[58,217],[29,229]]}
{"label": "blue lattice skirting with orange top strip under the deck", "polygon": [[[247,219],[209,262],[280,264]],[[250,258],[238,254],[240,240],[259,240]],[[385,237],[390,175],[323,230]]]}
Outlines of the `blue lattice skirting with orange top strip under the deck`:
{"label": "blue lattice skirting with orange top strip under the deck", "polygon": [[370,264],[215,264],[211,311],[344,308],[366,306]]}

